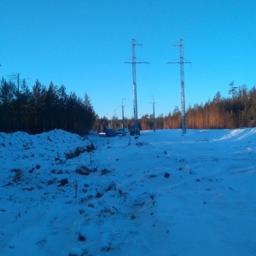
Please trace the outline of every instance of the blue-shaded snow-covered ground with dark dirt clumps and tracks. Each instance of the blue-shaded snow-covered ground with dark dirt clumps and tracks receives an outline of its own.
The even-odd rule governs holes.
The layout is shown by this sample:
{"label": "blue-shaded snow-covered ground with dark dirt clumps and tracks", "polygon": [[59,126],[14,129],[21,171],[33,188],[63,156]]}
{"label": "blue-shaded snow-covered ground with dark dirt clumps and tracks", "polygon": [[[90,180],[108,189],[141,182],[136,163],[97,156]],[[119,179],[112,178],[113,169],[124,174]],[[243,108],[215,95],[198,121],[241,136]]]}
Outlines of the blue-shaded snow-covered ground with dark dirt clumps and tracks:
{"label": "blue-shaded snow-covered ground with dark dirt clumps and tracks", "polygon": [[0,133],[0,255],[256,255],[256,129],[181,134]]}

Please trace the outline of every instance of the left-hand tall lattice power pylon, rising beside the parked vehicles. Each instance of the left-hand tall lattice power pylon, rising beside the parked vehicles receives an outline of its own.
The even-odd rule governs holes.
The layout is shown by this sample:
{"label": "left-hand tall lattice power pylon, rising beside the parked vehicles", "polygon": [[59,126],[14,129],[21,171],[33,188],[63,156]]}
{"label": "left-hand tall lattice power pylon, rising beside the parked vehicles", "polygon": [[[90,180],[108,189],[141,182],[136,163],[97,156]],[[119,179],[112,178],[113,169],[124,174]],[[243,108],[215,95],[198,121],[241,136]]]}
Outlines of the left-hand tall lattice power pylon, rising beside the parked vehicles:
{"label": "left-hand tall lattice power pylon, rising beside the parked vehicles", "polygon": [[132,66],[132,84],[133,84],[133,113],[134,113],[134,125],[135,135],[138,136],[138,121],[137,121],[137,83],[136,83],[136,64],[149,64],[147,61],[136,61],[135,47],[142,46],[143,44],[136,44],[134,38],[131,39],[131,62]]}

